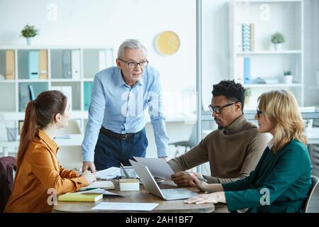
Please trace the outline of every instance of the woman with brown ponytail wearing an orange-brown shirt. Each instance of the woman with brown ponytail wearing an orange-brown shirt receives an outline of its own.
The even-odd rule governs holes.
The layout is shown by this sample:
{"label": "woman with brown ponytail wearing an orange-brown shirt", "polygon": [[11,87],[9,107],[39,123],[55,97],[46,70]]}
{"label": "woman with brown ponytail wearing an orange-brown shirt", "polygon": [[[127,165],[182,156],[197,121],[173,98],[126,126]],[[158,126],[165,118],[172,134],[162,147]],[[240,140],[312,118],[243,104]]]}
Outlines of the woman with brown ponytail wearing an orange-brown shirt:
{"label": "woman with brown ponytail wearing an orange-brown shirt", "polygon": [[96,180],[89,171],[78,175],[57,162],[59,148],[52,139],[59,128],[67,127],[68,120],[69,104],[62,92],[42,92],[28,103],[5,212],[50,212],[56,199],[50,199],[52,195],[76,192]]}

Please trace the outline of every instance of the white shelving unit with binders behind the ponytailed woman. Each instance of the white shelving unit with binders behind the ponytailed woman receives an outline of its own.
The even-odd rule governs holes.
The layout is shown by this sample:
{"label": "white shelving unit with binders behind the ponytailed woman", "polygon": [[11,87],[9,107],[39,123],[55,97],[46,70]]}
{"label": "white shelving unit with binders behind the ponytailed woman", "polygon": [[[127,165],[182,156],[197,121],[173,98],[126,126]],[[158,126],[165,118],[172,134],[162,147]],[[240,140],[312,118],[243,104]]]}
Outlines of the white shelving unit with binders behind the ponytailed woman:
{"label": "white shelving unit with binders behind the ponytailed woman", "polygon": [[[84,109],[84,84],[92,83],[94,75],[99,72],[99,51],[104,50],[105,66],[115,65],[116,53],[114,47],[103,46],[1,46],[0,56],[4,57],[6,50],[14,50],[15,79],[0,79],[0,114],[11,126],[18,128],[18,121],[24,119],[24,109],[21,109],[21,87],[32,84],[35,97],[45,90],[55,86],[72,87],[72,115],[78,121],[84,132],[87,121],[87,110]],[[30,50],[47,50],[47,78],[28,79],[28,52]],[[62,51],[79,50],[80,67],[77,79],[66,79],[62,76]],[[1,55],[2,54],[2,55]],[[3,59],[1,59],[3,60]],[[4,59],[5,60],[5,59]],[[6,74],[4,64],[0,65],[0,74]],[[91,94],[89,94],[91,96]],[[29,100],[28,100],[29,101]],[[27,102],[28,102],[27,101]]]}

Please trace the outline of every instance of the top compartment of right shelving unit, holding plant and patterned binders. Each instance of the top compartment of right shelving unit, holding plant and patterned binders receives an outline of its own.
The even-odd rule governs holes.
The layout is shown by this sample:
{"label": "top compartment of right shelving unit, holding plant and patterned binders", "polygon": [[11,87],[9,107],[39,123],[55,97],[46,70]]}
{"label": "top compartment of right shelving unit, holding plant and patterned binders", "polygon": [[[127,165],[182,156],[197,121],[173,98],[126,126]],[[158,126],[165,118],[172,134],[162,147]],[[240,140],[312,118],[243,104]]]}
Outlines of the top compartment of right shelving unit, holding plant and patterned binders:
{"label": "top compartment of right shelving unit, holding plant and patterned binders", "polygon": [[[271,36],[276,32],[284,34],[284,51],[302,49],[301,1],[235,1],[234,5],[235,24],[254,24],[254,50],[274,50]],[[235,33],[235,38],[240,35]]]}

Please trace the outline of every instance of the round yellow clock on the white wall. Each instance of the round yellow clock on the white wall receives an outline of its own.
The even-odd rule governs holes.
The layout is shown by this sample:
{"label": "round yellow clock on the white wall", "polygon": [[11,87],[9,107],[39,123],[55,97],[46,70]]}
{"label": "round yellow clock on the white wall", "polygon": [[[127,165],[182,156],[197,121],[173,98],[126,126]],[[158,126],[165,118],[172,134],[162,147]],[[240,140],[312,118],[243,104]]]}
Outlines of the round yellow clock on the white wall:
{"label": "round yellow clock on the white wall", "polygon": [[172,31],[159,33],[155,39],[155,48],[161,55],[172,55],[179,50],[179,36]]}

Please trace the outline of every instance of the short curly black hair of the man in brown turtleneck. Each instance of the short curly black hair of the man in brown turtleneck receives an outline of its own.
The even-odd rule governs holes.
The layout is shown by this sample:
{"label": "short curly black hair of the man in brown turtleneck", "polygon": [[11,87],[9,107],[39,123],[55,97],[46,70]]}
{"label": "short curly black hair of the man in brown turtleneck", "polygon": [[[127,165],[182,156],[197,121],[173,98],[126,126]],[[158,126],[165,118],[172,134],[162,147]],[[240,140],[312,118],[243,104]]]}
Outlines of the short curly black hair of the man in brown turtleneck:
{"label": "short curly black hair of the man in brown turtleneck", "polygon": [[245,89],[242,84],[236,83],[234,80],[222,80],[218,84],[213,85],[213,96],[225,96],[231,101],[238,101],[242,104],[242,111],[245,103]]}

